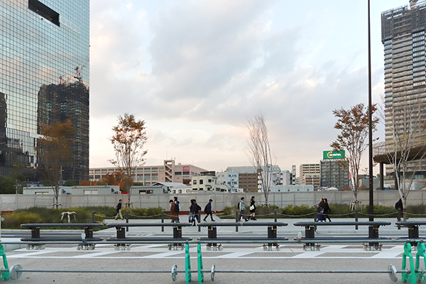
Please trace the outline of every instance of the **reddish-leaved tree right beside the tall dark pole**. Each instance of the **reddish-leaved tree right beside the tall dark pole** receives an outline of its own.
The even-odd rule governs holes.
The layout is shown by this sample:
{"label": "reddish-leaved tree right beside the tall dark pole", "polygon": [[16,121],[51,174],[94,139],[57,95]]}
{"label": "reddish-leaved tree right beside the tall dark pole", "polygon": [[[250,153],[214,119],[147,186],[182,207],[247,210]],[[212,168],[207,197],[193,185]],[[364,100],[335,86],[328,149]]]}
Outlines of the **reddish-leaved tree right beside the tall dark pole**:
{"label": "reddish-leaved tree right beside the tall dark pole", "polygon": [[[376,104],[371,106],[371,112],[376,112]],[[336,141],[330,144],[334,151],[346,151],[345,162],[349,165],[351,172],[352,192],[355,201],[358,201],[359,191],[359,167],[361,157],[368,146],[368,108],[364,104],[356,104],[350,109],[334,109],[333,114],[337,117],[334,129],[340,130]],[[378,118],[373,117],[371,127],[376,131]],[[356,203],[358,204],[358,202]]]}

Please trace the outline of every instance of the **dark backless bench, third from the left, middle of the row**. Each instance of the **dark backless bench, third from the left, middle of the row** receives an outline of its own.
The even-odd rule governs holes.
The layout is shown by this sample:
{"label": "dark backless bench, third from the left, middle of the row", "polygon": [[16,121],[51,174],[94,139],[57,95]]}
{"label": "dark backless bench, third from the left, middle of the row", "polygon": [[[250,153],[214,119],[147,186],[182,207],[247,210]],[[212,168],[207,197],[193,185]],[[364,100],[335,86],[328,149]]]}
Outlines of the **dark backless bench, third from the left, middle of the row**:
{"label": "dark backless bench, third from the left, middle of the row", "polygon": [[[207,226],[207,238],[200,238],[200,241],[206,243],[207,250],[212,249],[216,251],[222,251],[222,243],[224,241],[238,241],[238,242],[247,242],[250,243],[252,241],[264,241],[263,250],[272,250],[272,246],[279,251],[280,245],[279,242],[288,241],[287,238],[278,238],[277,236],[277,227],[278,226],[287,226],[287,223],[283,222],[207,222],[198,224],[200,227]],[[268,236],[260,237],[260,236],[221,236],[217,237],[217,227],[218,226],[268,226]]]}

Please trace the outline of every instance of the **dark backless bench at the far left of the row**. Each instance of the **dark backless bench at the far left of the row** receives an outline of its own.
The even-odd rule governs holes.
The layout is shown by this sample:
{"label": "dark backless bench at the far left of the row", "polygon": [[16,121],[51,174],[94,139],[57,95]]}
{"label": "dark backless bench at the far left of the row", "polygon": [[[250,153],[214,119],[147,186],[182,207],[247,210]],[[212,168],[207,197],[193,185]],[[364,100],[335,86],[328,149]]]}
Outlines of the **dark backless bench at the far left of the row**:
{"label": "dark backless bench at the far left of the row", "polygon": [[[31,242],[28,244],[27,249],[44,249],[45,244],[43,242],[48,241],[77,241],[82,244],[78,244],[77,250],[80,249],[94,249],[95,244],[92,242],[103,241],[101,238],[93,237],[93,230],[95,227],[104,226],[104,224],[97,223],[40,223],[40,224],[21,224],[22,228],[31,229],[31,237],[22,238],[21,241]],[[40,236],[40,228],[81,228],[84,229],[84,233],[81,236]],[[87,244],[87,241],[91,244]]]}

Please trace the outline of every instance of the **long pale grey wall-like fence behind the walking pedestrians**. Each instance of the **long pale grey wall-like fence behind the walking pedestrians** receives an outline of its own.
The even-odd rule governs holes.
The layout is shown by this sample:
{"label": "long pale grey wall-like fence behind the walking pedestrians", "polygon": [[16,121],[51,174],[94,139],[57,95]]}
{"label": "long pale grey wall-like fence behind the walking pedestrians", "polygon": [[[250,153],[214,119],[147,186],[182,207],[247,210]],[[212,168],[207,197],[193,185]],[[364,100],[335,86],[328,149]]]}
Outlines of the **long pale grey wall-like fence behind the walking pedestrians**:
{"label": "long pale grey wall-like fence behind the walking pedestrians", "polygon": [[[190,200],[195,199],[202,208],[212,199],[212,209],[220,211],[224,207],[236,206],[241,197],[245,198],[246,204],[250,204],[250,198],[255,197],[256,204],[265,203],[265,197],[261,192],[245,193],[224,193],[224,192],[200,192],[194,194],[182,195],[131,195],[133,207],[149,208],[163,207],[169,209],[169,200],[173,196],[178,196],[180,209],[187,211]],[[349,204],[354,200],[354,195],[350,191],[341,192],[271,192],[268,198],[268,204],[274,204],[278,207],[288,205],[307,204],[313,206],[320,202],[320,198],[327,198],[329,203]],[[399,200],[396,190],[376,190],[374,192],[374,204],[384,206],[394,206]],[[68,207],[88,207],[88,206],[109,206],[115,207],[119,200],[127,202],[127,195],[60,195],[59,203],[63,208]],[[358,200],[361,204],[368,204],[368,190],[360,191]],[[16,209],[26,209],[29,207],[52,207],[55,203],[53,195],[0,195],[0,211],[14,211]],[[413,190],[408,195],[408,204],[426,204],[426,190]]]}

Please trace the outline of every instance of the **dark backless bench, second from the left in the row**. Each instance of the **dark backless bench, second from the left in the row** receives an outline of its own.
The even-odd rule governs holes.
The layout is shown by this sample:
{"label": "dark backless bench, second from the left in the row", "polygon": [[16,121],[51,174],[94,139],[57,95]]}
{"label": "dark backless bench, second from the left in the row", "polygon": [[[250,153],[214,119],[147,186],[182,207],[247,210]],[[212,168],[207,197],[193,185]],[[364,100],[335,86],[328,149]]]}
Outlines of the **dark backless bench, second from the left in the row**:
{"label": "dark backless bench, second from the left in the row", "polygon": [[[192,226],[190,223],[113,223],[107,225],[109,228],[116,228],[116,237],[108,238],[106,241],[114,241],[114,249],[116,250],[130,250],[130,244],[128,241],[138,241],[145,243],[168,243],[169,251],[172,249],[177,250],[178,246],[180,249],[184,249],[185,243],[192,241],[191,238],[182,238],[182,227],[183,226]],[[137,236],[137,237],[126,237],[126,228],[132,226],[173,226],[173,237],[150,237],[150,236]]]}

